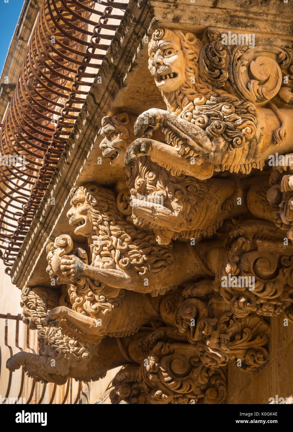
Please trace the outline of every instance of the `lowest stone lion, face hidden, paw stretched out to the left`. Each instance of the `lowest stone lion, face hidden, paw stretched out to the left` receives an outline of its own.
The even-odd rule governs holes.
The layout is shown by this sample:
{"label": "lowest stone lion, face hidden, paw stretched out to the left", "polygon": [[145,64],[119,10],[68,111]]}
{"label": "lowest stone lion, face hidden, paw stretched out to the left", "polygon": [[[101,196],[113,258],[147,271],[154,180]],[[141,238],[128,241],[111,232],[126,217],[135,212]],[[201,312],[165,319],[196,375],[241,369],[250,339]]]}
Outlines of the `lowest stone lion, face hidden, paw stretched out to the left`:
{"label": "lowest stone lion, face hidden, paw stretched out to the left", "polygon": [[7,360],[6,367],[14,371],[24,366],[24,371],[36,381],[65,384],[68,377],[89,381],[104,377],[105,361],[98,356],[95,343],[83,340],[77,329],[61,326],[44,327],[48,309],[60,307],[65,293],[47,287],[25,287],[22,290],[22,320],[31,329],[38,330],[38,354],[21,351]]}

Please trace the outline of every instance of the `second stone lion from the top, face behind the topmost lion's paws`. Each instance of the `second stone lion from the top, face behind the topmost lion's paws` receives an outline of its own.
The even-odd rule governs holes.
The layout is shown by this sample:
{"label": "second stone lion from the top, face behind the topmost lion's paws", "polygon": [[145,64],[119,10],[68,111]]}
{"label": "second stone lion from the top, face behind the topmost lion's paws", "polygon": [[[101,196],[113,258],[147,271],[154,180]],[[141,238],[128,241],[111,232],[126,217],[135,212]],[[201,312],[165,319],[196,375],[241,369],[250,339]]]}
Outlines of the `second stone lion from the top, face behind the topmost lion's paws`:
{"label": "second stone lion from the top, face behind the topmost lion's paws", "polygon": [[[247,211],[243,186],[238,179],[199,181],[184,174],[172,175],[152,157],[142,156],[130,169],[123,155],[134,140],[134,121],[127,113],[102,119],[100,148],[110,164],[124,168],[125,179],[117,185],[117,206],[131,214],[136,226],[153,229],[164,245],[176,239],[196,242],[213,235],[225,219]],[[241,206],[237,199],[241,199]]]}

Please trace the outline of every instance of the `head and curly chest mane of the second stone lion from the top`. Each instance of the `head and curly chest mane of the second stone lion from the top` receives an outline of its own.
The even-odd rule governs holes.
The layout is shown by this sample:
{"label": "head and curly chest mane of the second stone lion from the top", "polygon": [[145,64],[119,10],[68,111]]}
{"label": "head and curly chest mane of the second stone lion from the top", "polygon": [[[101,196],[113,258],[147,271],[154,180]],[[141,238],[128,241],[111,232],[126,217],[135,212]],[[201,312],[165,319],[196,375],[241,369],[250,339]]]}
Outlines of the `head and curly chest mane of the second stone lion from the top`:
{"label": "head and curly chest mane of the second stone lion from the top", "polygon": [[[108,152],[107,154],[112,154],[112,152],[114,152],[114,154],[117,153],[117,146],[119,146],[121,150],[124,149],[125,153],[129,145],[129,140],[132,142],[131,140],[135,138],[133,134],[134,121],[132,117],[128,116],[126,113],[117,116],[107,116],[102,120],[102,124],[107,124],[107,126],[101,129],[101,134],[105,134],[105,138],[100,145],[100,147],[105,148],[103,156],[104,152]],[[113,141],[109,143],[110,136],[112,136]],[[115,139],[114,137],[117,138]],[[120,144],[122,140],[124,142],[124,147]],[[122,193],[120,192],[118,194],[116,200],[120,213],[131,215],[132,222],[136,226],[141,226],[145,229],[153,229],[159,244],[166,245],[172,238],[176,240],[178,237],[197,237],[197,234],[198,238],[201,238],[203,235],[202,232],[195,233],[195,229],[190,231],[182,227],[186,225],[186,213],[188,213],[189,220],[195,219],[197,209],[194,204],[204,197],[204,192],[206,190],[204,186],[205,181],[201,182],[193,177],[187,177],[185,175],[176,175],[175,172],[173,172],[173,175],[160,165],[151,162],[151,159],[147,156],[139,158],[132,169],[126,166],[124,168],[127,188],[126,191],[123,190]],[[139,197],[142,196],[147,197],[147,199],[151,201],[164,201],[167,213],[171,212],[173,215],[177,215],[176,222],[180,224],[182,228],[181,232],[175,232],[176,230],[173,231],[167,228],[163,230],[160,221],[157,220],[155,222],[154,218],[150,218],[147,214],[145,214],[145,219],[138,216]],[[167,216],[167,213],[165,216]],[[81,218],[82,216],[79,214],[77,220],[79,221]],[[79,228],[77,227],[76,233],[78,230]]]}

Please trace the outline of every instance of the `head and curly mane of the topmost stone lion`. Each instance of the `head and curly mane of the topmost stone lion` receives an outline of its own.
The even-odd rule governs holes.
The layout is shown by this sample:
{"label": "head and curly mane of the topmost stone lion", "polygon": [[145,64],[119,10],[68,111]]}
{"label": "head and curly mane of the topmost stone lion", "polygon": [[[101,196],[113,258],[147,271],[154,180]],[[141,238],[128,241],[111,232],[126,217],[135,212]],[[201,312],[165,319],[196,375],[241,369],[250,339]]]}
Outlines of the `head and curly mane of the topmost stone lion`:
{"label": "head and curly mane of the topmost stone lion", "polygon": [[[201,50],[201,41],[192,33],[157,29],[148,47],[148,68],[167,111],[201,127],[210,138],[224,138],[231,151],[243,147],[246,140],[255,136],[255,106],[201,78],[198,67]],[[175,133],[166,127],[162,131],[165,141],[178,148],[181,155],[194,156]],[[217,171],[229,169],[227,159],[224,156]]]}

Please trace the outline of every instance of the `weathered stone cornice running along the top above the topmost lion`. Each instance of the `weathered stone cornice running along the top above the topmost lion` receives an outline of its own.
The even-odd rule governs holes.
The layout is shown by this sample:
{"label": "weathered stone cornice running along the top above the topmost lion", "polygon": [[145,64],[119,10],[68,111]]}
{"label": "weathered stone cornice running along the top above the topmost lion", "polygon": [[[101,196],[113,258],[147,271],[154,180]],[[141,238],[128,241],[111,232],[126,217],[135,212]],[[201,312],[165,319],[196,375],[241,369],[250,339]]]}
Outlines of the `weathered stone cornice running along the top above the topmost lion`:
{"label": "weathered stone cornice running along the top above the topmost lion", "polygon": [[[240,32],[264,33],[268,35],[292,35],[293,8],[290,3],[277,0],[256,0],[253,6],[246,1],[211,0],[150,0],[155,17],[168,28],[184,28],[198,32],[207,26]],[[269,6],[269,7],[268,7]],[[196,7],[196,14],[191,13]],[[293,38],[293,36],[292,36]]]}

